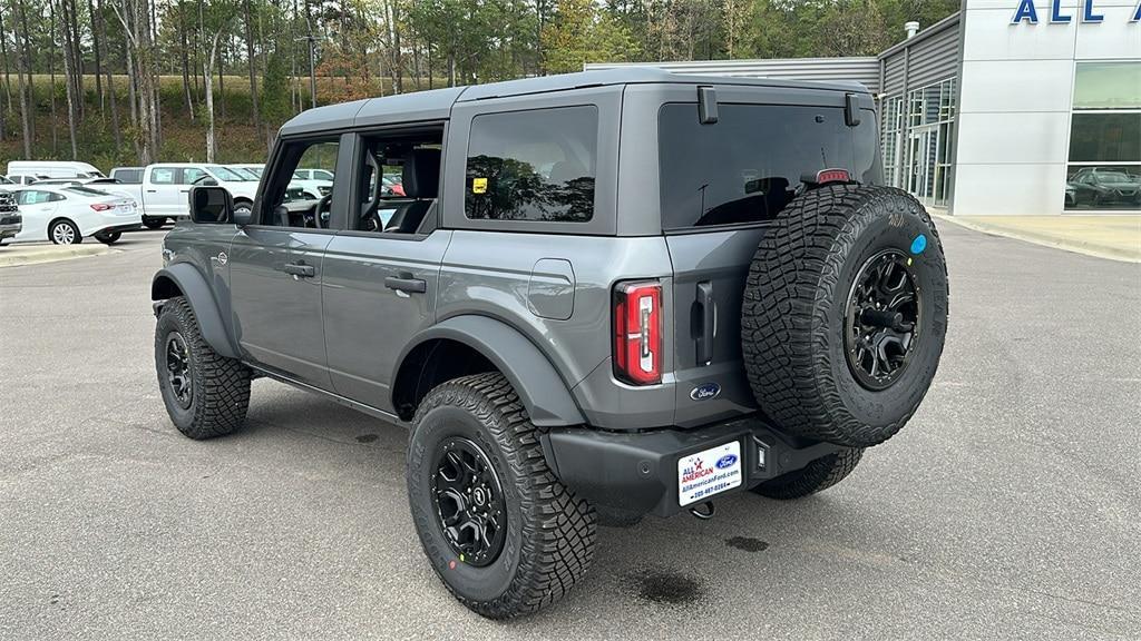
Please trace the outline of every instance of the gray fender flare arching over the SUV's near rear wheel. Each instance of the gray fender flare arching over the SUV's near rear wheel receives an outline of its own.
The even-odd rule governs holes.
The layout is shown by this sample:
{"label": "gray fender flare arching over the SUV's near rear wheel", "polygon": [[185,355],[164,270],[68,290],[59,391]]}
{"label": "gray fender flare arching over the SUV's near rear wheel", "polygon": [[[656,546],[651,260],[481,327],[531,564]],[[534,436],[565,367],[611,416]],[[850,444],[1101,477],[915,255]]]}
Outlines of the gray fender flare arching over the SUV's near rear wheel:
{"label": "gray fender flare arching over the SUV's near rear wheel", "polygon": [[396,381],[413,349],[435,339],[463,343],[491,360],[515,388],[535,425],[553,428],[586,422],[547,356],[518,330],[487,316],[454,316],[423,330],[400,352],[389,380]]}

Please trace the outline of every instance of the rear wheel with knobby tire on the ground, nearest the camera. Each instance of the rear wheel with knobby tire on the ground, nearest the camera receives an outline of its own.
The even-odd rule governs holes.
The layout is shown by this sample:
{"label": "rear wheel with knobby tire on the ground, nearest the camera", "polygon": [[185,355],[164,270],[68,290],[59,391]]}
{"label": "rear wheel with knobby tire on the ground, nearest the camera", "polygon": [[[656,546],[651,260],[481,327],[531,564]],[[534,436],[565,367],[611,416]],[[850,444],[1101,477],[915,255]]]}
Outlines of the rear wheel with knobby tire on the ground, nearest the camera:
{"label": "rear wheel with knobby tire on the ground, nearest the camera", "polygon": [[443,383],[413,425],[412,520],[452,595],[494,619],[563,598],[593,559],[597,518],[548,468],[539,430],[507,379]]}

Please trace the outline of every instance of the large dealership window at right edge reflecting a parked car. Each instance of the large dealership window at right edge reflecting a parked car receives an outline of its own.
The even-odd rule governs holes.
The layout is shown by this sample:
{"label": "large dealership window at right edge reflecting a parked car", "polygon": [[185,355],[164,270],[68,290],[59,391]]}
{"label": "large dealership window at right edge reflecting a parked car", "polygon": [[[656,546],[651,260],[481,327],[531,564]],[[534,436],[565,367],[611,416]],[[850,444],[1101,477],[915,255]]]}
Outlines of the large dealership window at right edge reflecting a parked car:
{"label": "large dealership window at right edge reflecting a parked car", "polygon": [[1141,62],[1077,63],[1067,210],[1141,210]]}

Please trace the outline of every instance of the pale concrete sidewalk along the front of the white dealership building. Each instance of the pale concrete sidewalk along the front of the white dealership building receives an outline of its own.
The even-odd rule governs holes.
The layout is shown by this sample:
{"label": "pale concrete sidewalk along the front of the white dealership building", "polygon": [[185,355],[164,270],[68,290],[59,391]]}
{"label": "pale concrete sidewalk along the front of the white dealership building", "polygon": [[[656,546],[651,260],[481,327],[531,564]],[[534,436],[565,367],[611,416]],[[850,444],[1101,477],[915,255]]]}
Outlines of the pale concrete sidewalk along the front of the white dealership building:
{"label": "pale concrete sidewalk along the front of the white dealership building", "polygon": [[1141,216],[944,216],[939,220],[1110,260],[1141,262]]}

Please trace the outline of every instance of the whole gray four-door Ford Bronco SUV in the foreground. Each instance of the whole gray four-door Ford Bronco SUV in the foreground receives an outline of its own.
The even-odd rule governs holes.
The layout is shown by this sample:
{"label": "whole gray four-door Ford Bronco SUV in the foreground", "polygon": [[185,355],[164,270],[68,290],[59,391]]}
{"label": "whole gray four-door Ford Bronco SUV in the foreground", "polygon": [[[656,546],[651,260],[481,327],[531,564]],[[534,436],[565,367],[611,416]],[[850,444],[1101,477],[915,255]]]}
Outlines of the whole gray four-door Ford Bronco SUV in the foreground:
{"label": "whole gray four-door Ford Bronco SUV in the foreground", "polygon": [[[561,598],[599,522],[798,498],[936,373],[947,271],[858,84],[586,72],[307,111],[252,212],[191,192],[154,277],[191,438],[268,376],[406,425],[413,522],[476,612]],[[298,168],[333,171],[296,200]]]}

